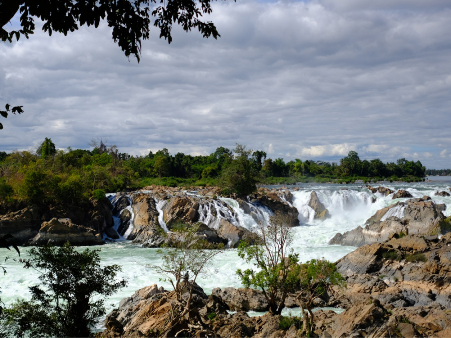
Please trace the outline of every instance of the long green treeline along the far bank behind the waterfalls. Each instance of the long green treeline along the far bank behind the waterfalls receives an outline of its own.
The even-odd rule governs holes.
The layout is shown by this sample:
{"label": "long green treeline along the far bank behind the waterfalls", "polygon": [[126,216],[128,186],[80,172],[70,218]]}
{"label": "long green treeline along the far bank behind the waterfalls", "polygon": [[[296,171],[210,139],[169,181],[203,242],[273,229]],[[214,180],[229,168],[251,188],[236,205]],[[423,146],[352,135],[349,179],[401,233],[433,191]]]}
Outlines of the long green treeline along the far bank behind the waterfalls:
{"label": "long green treeline along the far bank behind the waterfalls", "polygon": [[0,200],[26,199],[33,203],[78,203],[105,192],[151,184],[167,186],[218,185],[224,193],[246,195],[256,183],[306,181],[352,182],[420,180],[421,162],[402,158],[396,163],[360,160],[355,151],[340,163],[267,158],[264,151],[236,145],[219,147],[208,156],[171,155],[164,148],[146,156],[119,152],[115,145],[93,142],[92,150],[56,150],[46,138],[36,152],[0,152]]}

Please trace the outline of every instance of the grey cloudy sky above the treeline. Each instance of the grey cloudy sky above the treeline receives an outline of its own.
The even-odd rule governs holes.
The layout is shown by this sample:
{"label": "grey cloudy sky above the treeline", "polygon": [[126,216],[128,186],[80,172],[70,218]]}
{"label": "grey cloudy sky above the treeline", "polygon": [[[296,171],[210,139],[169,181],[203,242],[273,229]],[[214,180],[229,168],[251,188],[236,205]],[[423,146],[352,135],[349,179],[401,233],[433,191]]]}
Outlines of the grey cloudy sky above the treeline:
{"label": "grey cloudy sky above the treeline", "polygon": [[213,11],[221,38],[176,29],[168,45],[153,29],[139,64],[104,24],[1,43],[0,103],[25,113],[0,117],[0,151],[45,137],[133,155],[241,143],[286,161],[355,150],[451,167],[449,0],[237,0]]}

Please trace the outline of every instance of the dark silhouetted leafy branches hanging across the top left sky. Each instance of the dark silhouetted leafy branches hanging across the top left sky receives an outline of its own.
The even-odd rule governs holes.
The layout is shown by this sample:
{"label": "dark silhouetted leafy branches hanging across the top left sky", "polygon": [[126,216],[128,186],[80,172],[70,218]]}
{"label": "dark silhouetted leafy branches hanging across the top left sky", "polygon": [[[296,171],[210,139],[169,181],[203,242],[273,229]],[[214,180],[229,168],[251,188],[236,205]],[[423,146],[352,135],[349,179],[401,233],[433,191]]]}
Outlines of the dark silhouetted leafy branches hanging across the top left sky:
{"label": "dark silhouetted leafy branches hanging across the top left sky", "polygon": [[[127,57],[134,55],[139,62],[141,41],[149,38],[150,16],[155,17],[153,25],[159,28],[160,38],[172,41],[172,23],[179,24],[183,30],[197,29],[203,37],[217,38],[219,35],[212,22],[199,20],[202,14],[210,14],[212,0],[186,0],[182,2],[168,0],[160,6],[150,7],[154,0],[107,1],[107,0],[62,0],[48,2],[44,0],[11,0],[0,3],[0,39],[12,42],[23,35],[27,39],[35,30],[34,17],[41,19],[42,29],[52,35],[60,32],[67,35],[87,25],[98,27],[100,20],[106,20],[112,27],[112,37]],[[153,6],[152,6],[153,7]],[[2,27],[17,13],[21,13],[18,31],[7,32]]]}

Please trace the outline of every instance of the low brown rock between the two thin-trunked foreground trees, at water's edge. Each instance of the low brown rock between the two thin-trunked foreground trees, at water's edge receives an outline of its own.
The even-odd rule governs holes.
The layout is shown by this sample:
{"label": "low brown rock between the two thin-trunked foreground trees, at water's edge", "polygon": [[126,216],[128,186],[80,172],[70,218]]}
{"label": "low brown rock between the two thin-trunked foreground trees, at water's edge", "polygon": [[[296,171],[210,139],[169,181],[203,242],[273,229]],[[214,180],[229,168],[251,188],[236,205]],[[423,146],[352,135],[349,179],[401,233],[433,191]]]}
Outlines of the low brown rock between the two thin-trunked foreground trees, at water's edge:
{"label": "low brown rock between the two thin-trunked foreground trees, at water's edge", "polygon": [[214,288],[211,293],[222,299],[231,311],[261,312],[269,309],[269,304],[263,293],[254,289]]}

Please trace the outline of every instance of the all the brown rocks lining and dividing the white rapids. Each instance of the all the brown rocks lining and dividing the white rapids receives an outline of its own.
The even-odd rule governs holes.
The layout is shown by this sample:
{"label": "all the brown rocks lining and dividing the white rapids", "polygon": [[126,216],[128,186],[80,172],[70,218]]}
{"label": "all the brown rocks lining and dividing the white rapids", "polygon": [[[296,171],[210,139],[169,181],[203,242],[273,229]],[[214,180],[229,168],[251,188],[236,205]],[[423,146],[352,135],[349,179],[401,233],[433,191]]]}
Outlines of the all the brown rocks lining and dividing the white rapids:
{"label": "all the brown rocks lining and dividing the white rapids", "polygon": [[[451,336],[451,219],[443,214],[445,205],[433,203],[428,196],[410,198],[404,191],[395,193],[386,188],[376,191],[405,200],[378,210],[364,227],[337,234],[330,241],[330,244],[358,248],[336,262],[338,271],[346,278],[346,288],[333,287],[316,302],[318,307],[344,311],[316,311],[313,334],[321,337]],[[20,206],[17,210],[1,210],[0,229],[17,236],[21,245],[61,245],[65,240],[73,245],[98,245],[104,239],[114,240],[127,234],[133,243],[159,247],[177,239],[178,227],[201,225],[198,235],[207,238],[209,243],[236,247],[250,232],[228,221],[234,211],[217,196],[214,188],[190,194],[176,188],[153,186],[117,194],[112,203],[106,199],[91,201],[82,211]],[[238,203],[256,220],[259,215],[252,203],[274,214],[287,215],[291,225],[297,226],[298,211],[292,206],[292,198],[286,190],[259,189],[248,200]],[[314,192],[309,207],[314,210],[315,218],[328,217],[328,210]],[[208,223],[206,210],[223,215],[217,217],[217,222],[208,220],[211,221]],[[113,216],[120,224],[114,223]],[[20,226],[15,226],[19,223]],[[185,288],[188,289],[186,285]],[[296,294],[288,297],[286,306],[296,307],[296,298]],[[173,291],[157,285],[144,287],[120,302],[107,316],[105,330],[99,335],[287,338],[305,335],[299,322],[281,325],[284,321],[281,316],[250,317],[246,311],[268,308],[257,290],[217,288],[207,296],[195,285],[194,303],[201,322],[199,317],[186,316],[176,326],[168,327],[175,301]]]}

